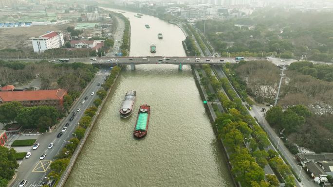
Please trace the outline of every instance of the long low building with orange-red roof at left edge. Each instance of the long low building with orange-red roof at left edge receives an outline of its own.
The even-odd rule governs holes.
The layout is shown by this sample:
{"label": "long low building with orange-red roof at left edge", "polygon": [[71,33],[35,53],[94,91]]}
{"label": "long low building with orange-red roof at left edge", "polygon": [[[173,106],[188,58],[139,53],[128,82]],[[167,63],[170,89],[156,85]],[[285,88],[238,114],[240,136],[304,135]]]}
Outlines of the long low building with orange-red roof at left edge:
{"label": "long low building with orange-red roof at left edge", "polygon": [[6,91],[0,92],[0,104],[5,102],[20,102],[23,106],[48,105],[62,108],[64,96],[67,91],[56,90],[36,90],[36,91]]}

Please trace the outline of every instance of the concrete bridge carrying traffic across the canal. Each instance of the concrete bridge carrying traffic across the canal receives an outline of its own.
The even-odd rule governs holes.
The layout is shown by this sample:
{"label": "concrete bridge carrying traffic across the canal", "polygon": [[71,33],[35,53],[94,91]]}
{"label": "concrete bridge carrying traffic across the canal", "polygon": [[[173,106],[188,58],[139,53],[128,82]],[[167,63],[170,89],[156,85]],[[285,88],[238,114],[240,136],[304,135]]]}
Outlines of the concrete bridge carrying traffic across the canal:
{"label": "concrete bridge carrying traffic across the canal", "polygon": [[[115,57],[114,57],[115,58]],[[115,60],[99,60],[93,61],[93,64],[117,64],[117,65],[130,65],[132,70],[135,65],[139,64],[173,64],[178,65],[179,70],[182,70],[183,65],[194,64],[225,64],[226,58],[215,57],[194,57],[194,56],[136,56],[136,57],[116,57]]]}

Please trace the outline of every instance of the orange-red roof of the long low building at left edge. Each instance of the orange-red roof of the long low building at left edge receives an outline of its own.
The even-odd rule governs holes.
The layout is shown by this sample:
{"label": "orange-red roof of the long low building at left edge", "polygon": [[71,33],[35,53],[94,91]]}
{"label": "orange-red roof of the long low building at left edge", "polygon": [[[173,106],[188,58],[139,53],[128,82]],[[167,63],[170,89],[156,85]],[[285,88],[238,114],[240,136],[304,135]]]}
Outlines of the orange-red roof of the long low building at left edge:
{"label": "orange-red roof of the long low building at left edge", "polygon": [[66,94],[64,89],[37,91],[0,92],[0,102],[59,100]]}

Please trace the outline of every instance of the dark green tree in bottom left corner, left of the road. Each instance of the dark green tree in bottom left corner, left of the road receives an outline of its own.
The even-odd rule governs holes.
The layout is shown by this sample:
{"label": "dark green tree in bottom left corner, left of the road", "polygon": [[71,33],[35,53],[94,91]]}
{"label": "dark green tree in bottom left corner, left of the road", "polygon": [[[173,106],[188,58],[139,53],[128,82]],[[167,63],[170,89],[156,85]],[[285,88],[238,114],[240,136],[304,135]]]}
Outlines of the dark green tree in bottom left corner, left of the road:
{"label": "dark green tree in bottom left corner, left of the road", "polygon": [[5,183],[5,180],[11,180],[15,174],[15,169],[19,167],[15,158],[16,151],[11,148],[0,146],[0,179],[1,183]]}

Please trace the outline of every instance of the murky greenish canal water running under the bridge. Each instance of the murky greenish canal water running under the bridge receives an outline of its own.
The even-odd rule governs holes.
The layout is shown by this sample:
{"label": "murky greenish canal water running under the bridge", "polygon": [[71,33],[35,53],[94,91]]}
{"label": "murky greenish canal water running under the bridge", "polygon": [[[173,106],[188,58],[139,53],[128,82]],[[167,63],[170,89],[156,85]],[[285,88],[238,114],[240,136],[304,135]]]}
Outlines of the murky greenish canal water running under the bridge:
{"label": "murky greenish canal water running under the bridge", "polygon": [[[131,23],[130,55],[150,55],[152,42],[156,55],[185,55],[178,27],[124,15]],[[160,32],[163,40],[157,38]],[[152,64],[121,72],[66,187],[233,187],[191,68],[183,68]],[[119,108],[127,90],[136,90],[137,100],[133,114],[122,119]],[[148,135],[138,140],[132,133],[144,103],[151,107]]]}

